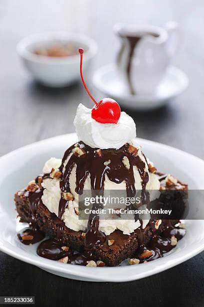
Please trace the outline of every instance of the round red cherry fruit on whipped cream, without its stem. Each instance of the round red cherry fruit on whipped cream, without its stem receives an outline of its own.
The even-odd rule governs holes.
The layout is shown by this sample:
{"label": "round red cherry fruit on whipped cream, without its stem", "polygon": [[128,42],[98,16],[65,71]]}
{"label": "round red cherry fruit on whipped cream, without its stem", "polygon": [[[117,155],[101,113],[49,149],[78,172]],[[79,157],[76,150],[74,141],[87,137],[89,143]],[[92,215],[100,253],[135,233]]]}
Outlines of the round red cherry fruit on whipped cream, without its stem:
{"label": "round red cherry fruit on whipped cream, without its stem", "polygon": [[119,104],[111,98],[103,98],[91,111],[91,117],[101,123],[117,123],[120,117]]}

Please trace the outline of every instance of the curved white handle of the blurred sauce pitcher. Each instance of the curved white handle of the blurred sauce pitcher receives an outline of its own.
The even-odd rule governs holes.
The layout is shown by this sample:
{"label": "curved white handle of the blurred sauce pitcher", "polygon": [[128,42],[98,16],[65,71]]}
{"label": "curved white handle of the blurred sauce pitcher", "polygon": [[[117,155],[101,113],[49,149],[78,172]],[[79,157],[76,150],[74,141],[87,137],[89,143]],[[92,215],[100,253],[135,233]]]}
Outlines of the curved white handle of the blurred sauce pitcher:
{"label": "curved white handle of the blurred sauce pitcher", "polygon": [[167,47],[167,54],[171,58],[175,54],[178,48],[178,43],[180,40],[180,27],[176,22],[170,21],[170,22],[167,22],[163,26],[163,28],[168,33],[168,40],[167,40],[166,47]]}

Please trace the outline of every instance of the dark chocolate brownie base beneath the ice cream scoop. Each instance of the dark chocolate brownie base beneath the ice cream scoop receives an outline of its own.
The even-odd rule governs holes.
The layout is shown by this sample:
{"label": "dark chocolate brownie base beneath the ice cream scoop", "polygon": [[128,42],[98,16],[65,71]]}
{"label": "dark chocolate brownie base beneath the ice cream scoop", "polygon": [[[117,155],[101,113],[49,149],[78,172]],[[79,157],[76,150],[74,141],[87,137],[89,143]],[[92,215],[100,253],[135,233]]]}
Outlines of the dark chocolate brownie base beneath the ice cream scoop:
{"label": "dark chocolate brownie base beneath the ice cream scoop", "polygon": [[[161,174],[157,176],[161,178]],[[172,186],[167,186],[164,179],[160,180],[161,186],[166,189],[172,189]],[[177,182],[173,185],[176,190],[186,190],[187,185]],[[25,189],[17,192],[14,195],[14,201],[16,210],[21,222],[30,223],[32,219],[32,213],[29,207],[28,195],[32,192],[27,192]],[[60,220],[54,213],[51,213],[40,201],[35,211],[35,220],[39,230],[44,232],[49,238],[56,238],[57,229],[63,227],[61,232],[61,241],[64,245],[71,247],[72,249],[82,252],[84,249],[84,233],[82,231],[73,231],[67,228],[62,220]],[[175,221],[172,221],[175,223]],[[147,244],[155,229],[150,226],[153,224],[147,224],[143,230],[143,243]],[[157,233],[162,232],[163,222],[161,223]],[[108,240],[114,240],[114,244],[108,245]],[[115,230],[109,236],[106,236],[105,242],[102,245],[96,245],[94,247],[93,256],[95,260],[103,261],[107,266],[116,266],[121,261],[127,258],[133,257],[135,251],[139,247],[137,234],[135,232],[130,235],[124,235],[120,230]]]}

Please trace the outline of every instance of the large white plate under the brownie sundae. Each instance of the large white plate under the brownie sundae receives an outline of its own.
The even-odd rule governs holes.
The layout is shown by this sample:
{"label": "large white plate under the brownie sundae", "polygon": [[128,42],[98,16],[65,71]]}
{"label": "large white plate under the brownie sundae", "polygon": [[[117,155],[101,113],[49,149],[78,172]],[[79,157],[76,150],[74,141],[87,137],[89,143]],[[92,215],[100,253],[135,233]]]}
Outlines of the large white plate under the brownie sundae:
{"label": "large white plate under the brownie sundae", "polygon": [[[39,257],[36,247],[25,246],[16,237],[21,223],[16,220],[13,195],[28,181],[41,173],[50,157],[61,158],[65,149],[77,140],[76,134],[65,134],[19,148],[0,158],[0,250],[22,261],[34,264],[50,273],[84,281],[130,281],[143,278],[175,266],[204,250],[204,221],[185,221],[187,233],[171,254],[139,265],[118,267],[85,267],[59,263]],[[169,172],[190,189],[204,186],[204,161],[178,149],[139,139],[143,152],[156,167]]]}

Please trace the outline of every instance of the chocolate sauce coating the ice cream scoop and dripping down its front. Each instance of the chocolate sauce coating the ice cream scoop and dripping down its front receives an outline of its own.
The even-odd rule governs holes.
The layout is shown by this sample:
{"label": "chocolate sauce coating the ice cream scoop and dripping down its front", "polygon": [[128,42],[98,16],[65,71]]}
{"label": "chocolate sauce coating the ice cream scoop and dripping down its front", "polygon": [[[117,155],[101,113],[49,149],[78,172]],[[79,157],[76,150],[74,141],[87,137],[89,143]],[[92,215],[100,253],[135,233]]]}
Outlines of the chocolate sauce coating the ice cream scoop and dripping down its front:
{"label": "chocolate sauce coating the ice cream scoop and dripping down its front", "polygon": [[[83,155],[71,155],[71,152],[76,146],[83,150]],[[68,156],[71,156],[64,167],[64,172],[60,180],[61,192],[70,193],[69,177],[73,167],[76,166],[75,192],[78,195],[83,193],[84,183],[88,175],[90,176],[91,195],[95,197],[98,191],[100,195],[103,195],[106,175],[108,179],[114,183],[119,184],[124,181],[126,183],[127,196],[133,197],[136,194],[133,166],[136,166],[142,180],[142,202],[146,202],[148,197],[146,197],[145,187],[148,182],[148,173],[144,171],[145,163],[139,158],[139,156],[133,156],[130,154],[128,151],[128,144],[123,145],[119,149],[99,150],[100,154],[97,153],[97,148],[91,148],[85,145],[82,141],[72,145],[66,150],[60,167],[61,172]],[[123,157],[127,157],[130,166],[129,169],[127,169],[122,163]],[[108,162],[108,165],[106,162]],[[61,197],[58,209],[59,218],[62,217],[67,205],[68,202]],[[92,209],[98,208],[102,208],[102,204],[93,204]],[[105,235],[98,230],[98,226],[99,216],[90,214],[84,240],[84,253],[82,255],[74,255],[74,259],[69,260],[71,263],[84,264],[87,260],[92,258],[95,246],[104,243]]]}

